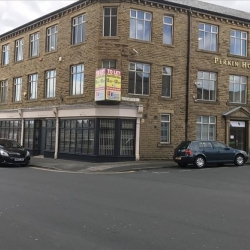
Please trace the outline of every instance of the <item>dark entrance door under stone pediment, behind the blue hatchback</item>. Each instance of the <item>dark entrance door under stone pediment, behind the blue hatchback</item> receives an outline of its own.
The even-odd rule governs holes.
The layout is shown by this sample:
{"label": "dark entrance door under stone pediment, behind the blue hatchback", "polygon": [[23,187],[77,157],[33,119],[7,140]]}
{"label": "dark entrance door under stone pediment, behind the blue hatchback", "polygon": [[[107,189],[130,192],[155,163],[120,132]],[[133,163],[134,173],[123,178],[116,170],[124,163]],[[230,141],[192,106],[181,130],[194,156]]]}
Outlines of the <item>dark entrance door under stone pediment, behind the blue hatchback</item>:
{"label": "dark entrance door under stone pediment, behind the blue hatchback", "polygon": [[229,146],[232,148],[246,150],[246,129],[245,128],[230,128]]}

